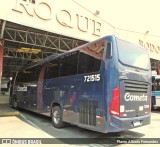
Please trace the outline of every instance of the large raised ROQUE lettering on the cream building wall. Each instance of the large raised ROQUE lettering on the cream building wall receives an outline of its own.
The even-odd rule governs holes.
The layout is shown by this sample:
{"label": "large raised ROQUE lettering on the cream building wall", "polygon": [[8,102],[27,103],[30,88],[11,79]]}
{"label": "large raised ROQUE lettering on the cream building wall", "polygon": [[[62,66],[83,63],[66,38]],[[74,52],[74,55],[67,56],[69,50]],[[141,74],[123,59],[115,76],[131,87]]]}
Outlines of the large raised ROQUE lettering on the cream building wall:
{"label": "large raised ROQUE lettering on the cream building wall", "polygon": [[[57,9],[54,1],[50,0],[16,0],[12,11],[24,14],[27,13],[32,19],[38,17],[46,23],[53,23],[53,27],[58,22],[59,25],[70,30],[77,30],[83,33],[89,33],[94,36],[101,36],[101,22],[76,12],[71,9]],[[87,14],[87,13],[86,13]],[[37,24],[38,25],[38,24]]]}

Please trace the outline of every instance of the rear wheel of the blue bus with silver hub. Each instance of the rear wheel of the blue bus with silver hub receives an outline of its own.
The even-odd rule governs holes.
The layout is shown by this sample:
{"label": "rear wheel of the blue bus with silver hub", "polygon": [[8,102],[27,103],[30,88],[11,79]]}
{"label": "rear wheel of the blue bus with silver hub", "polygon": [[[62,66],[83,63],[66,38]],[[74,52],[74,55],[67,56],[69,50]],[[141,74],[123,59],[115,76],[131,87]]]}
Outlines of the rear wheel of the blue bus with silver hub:
{"label": "rear wheel of the blue bus with silver hub", "polygon": [[59,106],[55,106],[52,108],[51,118],[52,118],[52,125],[55,128],[63,128],[65,123],[63,122],[63,114],[62,110]]}

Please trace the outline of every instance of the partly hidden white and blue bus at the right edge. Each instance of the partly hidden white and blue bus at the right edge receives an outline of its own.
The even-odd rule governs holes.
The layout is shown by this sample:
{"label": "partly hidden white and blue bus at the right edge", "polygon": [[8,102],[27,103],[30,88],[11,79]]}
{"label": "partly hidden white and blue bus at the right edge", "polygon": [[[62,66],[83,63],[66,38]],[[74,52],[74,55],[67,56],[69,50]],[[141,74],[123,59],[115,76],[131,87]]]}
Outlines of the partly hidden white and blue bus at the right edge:
{"label": "partly hidden white and blue bus at the right edge", "polygon": [[152,75],[152,109],[160,107],[160,75]]}

